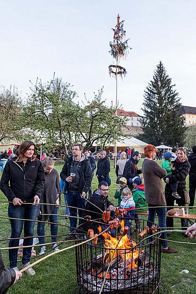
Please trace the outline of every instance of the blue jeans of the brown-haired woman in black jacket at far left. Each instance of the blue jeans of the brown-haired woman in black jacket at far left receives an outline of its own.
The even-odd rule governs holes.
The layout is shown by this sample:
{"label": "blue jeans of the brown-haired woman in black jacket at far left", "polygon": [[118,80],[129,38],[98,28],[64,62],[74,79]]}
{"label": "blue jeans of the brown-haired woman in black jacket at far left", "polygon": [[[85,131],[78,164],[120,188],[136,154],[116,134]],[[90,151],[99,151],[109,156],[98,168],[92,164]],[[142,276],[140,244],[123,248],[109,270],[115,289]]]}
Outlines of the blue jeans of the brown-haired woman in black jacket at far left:
{"label": "blue jeans of the brown-haired woman in black jacket at far left", "polygon": [[[10,238],[20,238],[24,225],[24,237],[33,237],[35,220],[37,219],[37,214],[39,211],[39,205],[20,205],[14,206],[12,203],[9,203],[8,206],[8,217],[16,219],[26,219],[32,221],[22,221],[22,220],[10,220],[11,224],[11,237]],[[33,245],[33,238],[24,239],[24,246]],[[19,246],[19,239],[10,240],[9,247]],[[18,249],[9,250],[9,263],[10,268],[17,267],[17,257]],[[23,248],[23,258],[22,263],[26,264],[29,262],[31,257],[31,247]]]}

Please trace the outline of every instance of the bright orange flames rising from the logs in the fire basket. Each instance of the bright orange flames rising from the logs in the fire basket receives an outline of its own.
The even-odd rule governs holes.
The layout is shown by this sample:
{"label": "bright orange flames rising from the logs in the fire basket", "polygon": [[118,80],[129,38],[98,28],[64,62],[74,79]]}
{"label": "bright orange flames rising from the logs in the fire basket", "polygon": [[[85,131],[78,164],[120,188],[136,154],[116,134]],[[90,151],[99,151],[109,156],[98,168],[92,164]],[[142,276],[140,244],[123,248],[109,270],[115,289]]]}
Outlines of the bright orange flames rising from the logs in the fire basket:
{"label": "bright orange flames rising from the logs in the fire basket", "polygon": [[[121,221],[121,227],[123,230],[124,229],[124,221]],[[99,233],[102,231],[100,226],[98,226],[98,231],[99,231]],[[137,243],[130,241],[127,234],[123,237],[119,236],[118,238],[116,238],[116,237],[112,237],[110,232],[104,232],[104,233],[102,233],[102,236],[104,237],[104,240],[105,240],[104,247],[110,248],[110,250],[107,249],[105,252],[105,255],[103,257],[104,263],[109,262],[113,256],[113,254],[114,254],[113,259],[115,257],[117,257],[117,254],[121,254],[123,261],[126,260],[127,267],[136,268],[138,266],[136,258],[138,258],[139,249],[138,248],[132,249],[137,245]],[[119,244],[118,244],[118,242],[119,242]],[[111,250],[111,249],[114,249],[114,250]],[[115,249],[127,249],[127,250],[122,250],[122,251],[116,250],[115,251]],[[130,250],[130,249],[132,249],[132,250]],[[114,253],[114,251],[115,251],[115,253]],[[135,259],[136,259],[136,261],[135,261]]]}

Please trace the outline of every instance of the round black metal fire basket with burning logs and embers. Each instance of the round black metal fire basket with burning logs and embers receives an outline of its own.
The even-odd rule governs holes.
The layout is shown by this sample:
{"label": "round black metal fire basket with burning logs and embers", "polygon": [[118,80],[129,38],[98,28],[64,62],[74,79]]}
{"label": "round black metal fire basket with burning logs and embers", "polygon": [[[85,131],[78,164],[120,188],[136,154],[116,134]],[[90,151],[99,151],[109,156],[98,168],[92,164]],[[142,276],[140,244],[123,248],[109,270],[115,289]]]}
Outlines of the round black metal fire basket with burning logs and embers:
{"label": "round black metal fire basket with burning logs and embers", "polygon": [[[145,227],[146,221],[140,220],[140,228]],[[120,228],[123,232],[124,221],[121,221]],[[92,229],[96,232],[93,224]],[[100,226],[98,232],[101,232]],[[141,239],[136,232],[131,233],[131,239],[116,229],[116,237],[108,231],[98,238],[97,245],[89,242],[76,247],[79,293],[98,294],[104,278],[101,293],[149,294],[158,288],[160,241],[148,244],[145,240],[137,247]]]}

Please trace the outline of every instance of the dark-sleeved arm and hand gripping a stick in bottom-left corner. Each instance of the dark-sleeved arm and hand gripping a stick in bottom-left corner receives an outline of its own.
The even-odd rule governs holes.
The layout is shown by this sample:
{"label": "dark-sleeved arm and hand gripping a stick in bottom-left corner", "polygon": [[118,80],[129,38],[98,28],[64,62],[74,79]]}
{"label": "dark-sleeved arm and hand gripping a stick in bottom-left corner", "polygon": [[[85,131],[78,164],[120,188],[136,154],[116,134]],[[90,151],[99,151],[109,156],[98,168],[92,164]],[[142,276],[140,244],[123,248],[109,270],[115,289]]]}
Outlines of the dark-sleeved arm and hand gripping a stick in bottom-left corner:
{"label": "dark-sleeved arm and hand gripping a stick in bottom-left corner", "polygon": [[5,294],[9,287],[16,283],[22,276],[18,270],[6,269],[3,264],[2,255],[0,251],[0,294]]}

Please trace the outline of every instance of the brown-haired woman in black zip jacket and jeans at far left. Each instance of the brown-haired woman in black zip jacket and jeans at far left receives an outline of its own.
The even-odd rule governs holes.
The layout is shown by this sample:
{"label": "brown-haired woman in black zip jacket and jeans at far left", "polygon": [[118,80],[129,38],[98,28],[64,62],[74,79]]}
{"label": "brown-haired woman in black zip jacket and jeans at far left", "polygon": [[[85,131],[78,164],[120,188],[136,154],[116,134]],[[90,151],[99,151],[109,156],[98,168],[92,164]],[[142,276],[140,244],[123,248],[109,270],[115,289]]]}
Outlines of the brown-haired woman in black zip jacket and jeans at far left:
{"label": "brown-haired woman in black zip jacket and jeans at far left", "polygon": [[[25,141],[19,147],[16,157],[5,165],[0,180],[0,190],[11,202],[8,206],[8,216],[11,223],[11,238],[20,238],[24,225],[24,237],[33,237],[34,220],[39,211],[40,196],[44,187],[44,169],[41,161],[33,155],[35,144]],[[32,204],[24,204],[24,202]],[[25,219],[32,221],[23,221]],[[32,245],[33,238],[24,239],[24,246]],[[19,246],[19,239],[10,240],[9,247]],[[9,250],[10,268],[17,268],[18,249]],[[23,249],[23,268],[29,265],[31,247]],[[28,275],[34,275],[30,268],[25,271]]]}

